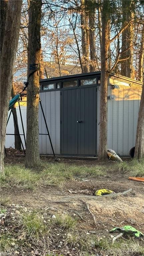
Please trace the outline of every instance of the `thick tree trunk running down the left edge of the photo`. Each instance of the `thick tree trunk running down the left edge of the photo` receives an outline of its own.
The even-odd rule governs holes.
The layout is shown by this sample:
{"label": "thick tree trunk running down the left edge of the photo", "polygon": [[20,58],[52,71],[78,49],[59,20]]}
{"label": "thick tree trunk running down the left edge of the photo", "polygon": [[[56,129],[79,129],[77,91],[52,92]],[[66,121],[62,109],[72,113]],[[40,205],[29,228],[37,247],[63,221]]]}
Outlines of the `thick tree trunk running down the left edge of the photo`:
{"label": "thick tree trunk running down the left edge of the photo", "polygon": [[0,84],[0,173],[4,173],[4,145],[14,62],[18,46],[22,1],[2,0],[1,7],[1,84]]}

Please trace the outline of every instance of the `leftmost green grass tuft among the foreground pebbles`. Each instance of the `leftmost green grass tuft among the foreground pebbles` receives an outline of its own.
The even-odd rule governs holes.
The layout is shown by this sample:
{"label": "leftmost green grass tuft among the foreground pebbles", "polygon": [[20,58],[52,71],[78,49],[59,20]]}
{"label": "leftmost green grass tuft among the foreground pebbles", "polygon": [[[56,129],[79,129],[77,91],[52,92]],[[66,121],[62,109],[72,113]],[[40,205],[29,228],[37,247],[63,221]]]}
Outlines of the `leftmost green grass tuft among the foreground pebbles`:
{"label": "leftmost green grass tuft among the foreground pebbles", "polygon": [[23,214],[21,217],[21,222],[22,231],[28,237],[38,239],[40,236],[43,236],[47,231],[46,225],[43,223],[43,219],[37,212]]}

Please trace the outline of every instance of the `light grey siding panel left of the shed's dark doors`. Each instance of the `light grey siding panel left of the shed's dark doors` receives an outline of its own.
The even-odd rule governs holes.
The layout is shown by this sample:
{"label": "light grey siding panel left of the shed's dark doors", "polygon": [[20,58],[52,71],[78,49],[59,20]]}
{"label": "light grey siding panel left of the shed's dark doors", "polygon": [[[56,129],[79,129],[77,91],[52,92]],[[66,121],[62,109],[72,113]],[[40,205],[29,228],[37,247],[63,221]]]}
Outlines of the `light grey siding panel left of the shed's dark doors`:
{"label": "light grey siding panel left of the shed's dark doors", "polygon": [[[60,91],[42,92],[41,100],[55,154],[60,154]],[[39,133],[47,134],[40,107]],[[48,135],[39,136],[39,145],[40,154],[52,154]]]}

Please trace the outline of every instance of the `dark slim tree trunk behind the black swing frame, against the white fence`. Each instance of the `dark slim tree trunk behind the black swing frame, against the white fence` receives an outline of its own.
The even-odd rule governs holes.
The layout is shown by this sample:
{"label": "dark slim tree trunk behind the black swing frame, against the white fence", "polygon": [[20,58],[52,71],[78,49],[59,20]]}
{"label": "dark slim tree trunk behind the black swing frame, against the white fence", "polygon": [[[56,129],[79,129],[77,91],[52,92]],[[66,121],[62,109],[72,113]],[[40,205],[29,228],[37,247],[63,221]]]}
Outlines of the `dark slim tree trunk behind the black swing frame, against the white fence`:
{"label": "dark slim tree trunk behind the black swing frame, against the white fence", "polygon": [[[12,91],[11,91],[12,98],[15,96],[15,94],[16,93],[15,93],[14,84],[12,83]],[[14,118],[15,118],[15,121],[16,121],[16,124],[15,124],[15,121],[14,121],[14,118],[13,118],[13,121],[14,121],[14,134],[18,134],[19,133],[19,130],[17,130],[18,119],[17,119],[17,112],[16,112],[15,105],[13,106],[13,114],[14,114]],[[18,135],[15,135],[14,137],[15,137],[15,149],[20,150],[21,149],[20,137]]]}

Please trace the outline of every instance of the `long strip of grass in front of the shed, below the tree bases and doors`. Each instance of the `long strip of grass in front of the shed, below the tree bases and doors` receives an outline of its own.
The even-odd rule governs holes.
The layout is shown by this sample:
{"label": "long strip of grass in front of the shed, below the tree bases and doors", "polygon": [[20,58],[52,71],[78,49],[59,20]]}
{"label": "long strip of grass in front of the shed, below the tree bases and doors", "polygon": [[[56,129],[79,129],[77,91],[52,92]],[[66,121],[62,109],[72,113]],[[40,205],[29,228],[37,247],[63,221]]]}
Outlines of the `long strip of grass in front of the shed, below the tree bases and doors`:
{"label": "long strip of grass in front of the shed, below the tree bases and doors", "polygon": [[75,177],[100,177],[105,174],[101,166],[75,166],[64,163],[43,163],[41,171],[24,168],[22,165],[7,165],[1,175],[1,187],[17,187],[35,190],[39,185],[62,187]]}

